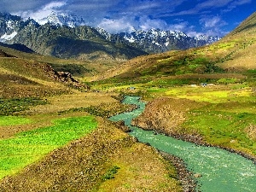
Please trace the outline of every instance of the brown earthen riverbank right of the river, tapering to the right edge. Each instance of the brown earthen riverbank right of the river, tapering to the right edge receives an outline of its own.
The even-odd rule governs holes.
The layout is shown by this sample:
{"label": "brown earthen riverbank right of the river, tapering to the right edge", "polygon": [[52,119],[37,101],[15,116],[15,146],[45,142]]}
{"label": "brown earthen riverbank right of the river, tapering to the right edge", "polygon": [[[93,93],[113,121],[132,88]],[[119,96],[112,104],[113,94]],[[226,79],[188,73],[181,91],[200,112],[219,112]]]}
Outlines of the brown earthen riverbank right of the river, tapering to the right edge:
{"label": "brown earthen riverbank right of the river, tapering to the right edge", "polygon": [[[194,113],[194,110],[201,108],[208,108],[207,105],[207,102],[160,97],[148,102],[144,112],[133,119],[131,125],[138,126],[143,130],[155,131],[155,134],[164,134],[197,145],[223,148],[231,153],[240,154],[248,160],[253,160],[256,164],[256,155],[248,152],[247,148],[243,148],[243,150],[232,148],[230,144],[236,141],[236,138],[231,138],[228,146],[227,143],[210,143],[206,136],[201,134],[200,129],[188,129],[184,126],[189,119],[188,113]],[[218,124],[218,119],[216,119],[215,124]]]}

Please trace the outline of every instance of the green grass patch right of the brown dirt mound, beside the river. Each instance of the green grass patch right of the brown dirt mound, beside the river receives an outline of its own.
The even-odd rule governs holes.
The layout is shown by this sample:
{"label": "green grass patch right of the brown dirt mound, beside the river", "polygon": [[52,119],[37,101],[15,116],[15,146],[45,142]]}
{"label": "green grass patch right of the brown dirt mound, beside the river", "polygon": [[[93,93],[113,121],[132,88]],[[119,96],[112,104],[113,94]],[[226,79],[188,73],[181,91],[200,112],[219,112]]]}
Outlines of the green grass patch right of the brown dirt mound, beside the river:
{"label": "green grass patch right of the brown dirt mound, beside the river", "polygon": [[230,113],[221,108],[207,110],[188,113],[183,127],[188,132],[198,132],[207,143],[256,155],[256,143],[247,137],[246,131],[249,125],[256,124],[254,113]]}

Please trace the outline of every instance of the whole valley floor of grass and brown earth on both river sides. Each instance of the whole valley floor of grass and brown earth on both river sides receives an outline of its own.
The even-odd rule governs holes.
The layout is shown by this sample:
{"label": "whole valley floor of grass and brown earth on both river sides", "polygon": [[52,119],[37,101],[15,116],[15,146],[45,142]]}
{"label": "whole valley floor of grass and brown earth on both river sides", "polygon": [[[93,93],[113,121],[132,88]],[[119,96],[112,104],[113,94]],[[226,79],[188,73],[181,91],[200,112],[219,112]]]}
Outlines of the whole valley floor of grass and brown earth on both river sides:
{"label": "whole valley floor of grass and brown earth on both river sides", "polygon": [[[200,136],[205,143],[256,156],[255,90],[252,82],[236,83],[239,77],[243,78],[211,78],[212,84],[207,86],[201,86],[199,80],[196,84],[181,84],[184,79],[172,78],[148,79],[136,84],[106,82],[92,84],[92,90],[100,92],[50,96],[34,104],[3,100],[4,105],[20,103],[20,109],[9,113],[18,116],[0,119],[3,137],[0,189],[181,191],[172,164],[154,149],[136,143],[106,120],[92,121],[93,125],[98,124],[94,131],[88,127],[93,119],[88,113],[107,118],[129,108],[121,107],[114,99],[119,93],[140,95],[155,103],[154,108],[149,108],[150,116],[165,122],[167,133]],[[182,120],[176,124],[175,117]],[[85,137],[87,129],[72,130],[84,126],[91,131]],[[38,183],[42,179],[47,182]]]}

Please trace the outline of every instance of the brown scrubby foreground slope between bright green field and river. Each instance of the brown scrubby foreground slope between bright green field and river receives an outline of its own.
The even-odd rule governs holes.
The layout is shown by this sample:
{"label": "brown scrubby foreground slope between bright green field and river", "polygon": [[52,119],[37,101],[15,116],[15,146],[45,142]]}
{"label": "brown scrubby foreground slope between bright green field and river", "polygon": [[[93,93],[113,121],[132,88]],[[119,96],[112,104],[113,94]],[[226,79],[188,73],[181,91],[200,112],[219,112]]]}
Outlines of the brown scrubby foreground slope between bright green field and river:
{"label": "brown scrubby foreground slope between bright green field and river", "polygon": [[156,150],[108,121],[97,121],[90,134],[3,178],[0,190],[182,191],[174,167]]}

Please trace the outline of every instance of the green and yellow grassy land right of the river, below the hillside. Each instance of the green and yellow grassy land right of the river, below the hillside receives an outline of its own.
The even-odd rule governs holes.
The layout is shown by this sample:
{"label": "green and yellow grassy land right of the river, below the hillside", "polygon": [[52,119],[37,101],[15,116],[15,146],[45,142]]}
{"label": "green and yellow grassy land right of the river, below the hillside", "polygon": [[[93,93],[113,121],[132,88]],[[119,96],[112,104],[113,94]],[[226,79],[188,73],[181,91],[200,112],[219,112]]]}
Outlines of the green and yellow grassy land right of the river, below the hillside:
{"label": "green and yellow grassy land right of the river, below the hillside", "polygon": [[[230,49],[233,43],[218,46],[219,49]],[[196,61],[200,62],[204,60]],[[158,78],[148,76],[132,80],[114,78],[103,80],[102,84],[92,83],[94,88],[139,95],[148,102],[155,102],[153,106],[148,105],[148,116],[140,119],[145,125],[147,121],[160,122],[160,125],[151,129],[160,129],[171,135],[200,136],[203,143],[235,149],[256,158],[254,70],[246,73],[194,73]],[[170,98],[170,101],[161,103],[158,98]],[[165,129],[162,130],[161,126]]]}

